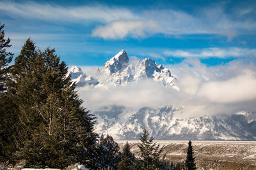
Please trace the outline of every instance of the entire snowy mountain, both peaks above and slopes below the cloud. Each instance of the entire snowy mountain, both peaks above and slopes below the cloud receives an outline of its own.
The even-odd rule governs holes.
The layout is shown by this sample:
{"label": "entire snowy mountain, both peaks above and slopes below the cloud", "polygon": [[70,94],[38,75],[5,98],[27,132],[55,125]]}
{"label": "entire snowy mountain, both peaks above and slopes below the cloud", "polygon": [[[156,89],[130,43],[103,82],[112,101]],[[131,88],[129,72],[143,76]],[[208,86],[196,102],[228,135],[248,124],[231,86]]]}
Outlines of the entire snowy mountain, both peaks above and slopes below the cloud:
{"label": "entire snowy mountain, both peaks above and slopes below the cloud", "polygon": [[[166,88],[179,90],[175,85],[179,79],[174,78],[169,69],[148,58],[130,62],[124,50],[108,60],[103,68],[99,68],[94,77],[87,76],[76,66],[69,69],[67,76],[77,87],[108,89],[151,79]],[[256,139],[256,113],[175,117],[175,113],[179,115],[182,109],[172,105],[138,109],[102,106],[100,110],[92,112],[97,116],[97,132],[111,134],[115,139],[138,139],[143,128],[147,128],[156,139]]]}

